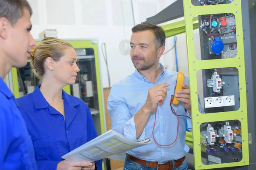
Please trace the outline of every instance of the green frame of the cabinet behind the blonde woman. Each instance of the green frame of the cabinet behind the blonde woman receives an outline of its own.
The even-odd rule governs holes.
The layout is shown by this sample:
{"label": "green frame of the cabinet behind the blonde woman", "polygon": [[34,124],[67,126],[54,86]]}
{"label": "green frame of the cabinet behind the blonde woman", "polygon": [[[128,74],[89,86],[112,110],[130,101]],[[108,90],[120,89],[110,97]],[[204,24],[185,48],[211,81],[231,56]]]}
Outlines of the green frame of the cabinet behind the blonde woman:
{"label": "green frame of the cabinet behind the blonde woman", "polygon": [[[98,102],[99,102],[99,116],[100,116],[100,126],[101,133],[105,133],[105,119],[102,103],[102,88],[100,81],[100,70],[99,70],[99,54],[98,54],[98,45],[92,43],[91,40],[67,40],[74,48],[93,48],[94,57],[95,57],[95,68],[96,68],[96,81],[97,81],[97,92],[98,92]],[[37,45],[40,41],[36,41]],[[13,93],[15,98],[19,97],[19,88],[18,88],[18,78],[17,78],[17,68],[12,68],[12,83],[13,83]],[[70,94],[70,85],[67,85],[63,88],[67,94]]]}

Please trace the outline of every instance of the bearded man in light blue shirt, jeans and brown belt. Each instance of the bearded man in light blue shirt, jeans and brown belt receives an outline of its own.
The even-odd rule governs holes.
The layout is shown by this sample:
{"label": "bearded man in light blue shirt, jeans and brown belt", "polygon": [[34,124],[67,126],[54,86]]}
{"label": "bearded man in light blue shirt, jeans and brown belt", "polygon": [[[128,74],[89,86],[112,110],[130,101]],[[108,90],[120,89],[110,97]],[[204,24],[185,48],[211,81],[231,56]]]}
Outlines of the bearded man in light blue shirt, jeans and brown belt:
{"label": "bearded man in light blue shirt, jeans and brown belt", "polygon": [[[132,32],[131,60],[136,70],[113,85],[108,110],[112,128],[117,132],[134,141],[154,140],[129,150],[124,169],[186,170],[186,118],[191,129],[188,77],[175,95],[179,104],[170,106],[177,72],[164,69],[159,62],[165,50],[163,29],[139,24]],[[204,112],[201,106],[199,111]]]}

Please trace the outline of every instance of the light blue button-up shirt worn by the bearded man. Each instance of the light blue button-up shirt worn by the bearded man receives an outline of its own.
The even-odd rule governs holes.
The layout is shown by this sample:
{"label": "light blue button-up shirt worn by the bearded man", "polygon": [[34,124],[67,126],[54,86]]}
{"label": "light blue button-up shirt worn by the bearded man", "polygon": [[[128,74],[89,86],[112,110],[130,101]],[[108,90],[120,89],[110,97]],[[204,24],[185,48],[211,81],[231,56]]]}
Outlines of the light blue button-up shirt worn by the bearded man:
{"label": "light blue button-up shirt worn by the bearded man", "polygon": [[[111,88],[108,98],[108,111],[111,117],[112,128],[131,140],[140,141],[147,138],[153,140],[152,129],[155,112],[152,112],[149,116],[143,133],[138,140],[136,138],[134,115],[140,111],[145,104],[149,88],[167,82],[169,82],[170,85],[166,87],[168,92],[163,100],[163,105],[159,103],[157,106],[154,137],[157,143],[161,145],[171,144],[176,138],[178,120],[170,108],[170,99],[174,92],[177,72],[165,70],[161,64],[160,67],[163,71],[158,75],[158,79],[155,83],[149,82],[135,70],[134,74],[116,83]],[[187,76],[185,76],[184,84],[189,85]],[[178,115],[189,116],[188,111],[183,107],[183,102],[172,106]],[[204,113],[204,109],[201,106],[199,110],[201,113]],[[189,147],[185,144],[186,117],[180,116],[179,119],[178,137],[174,144],[168,147],[162,147],[157,145],[153,140],[151,144],[129,150],[127,153],[139,159],[157,162],[182,158],[189,152]],[[187,122],[188,128],[191,129],[191,120],[187,119]]]}

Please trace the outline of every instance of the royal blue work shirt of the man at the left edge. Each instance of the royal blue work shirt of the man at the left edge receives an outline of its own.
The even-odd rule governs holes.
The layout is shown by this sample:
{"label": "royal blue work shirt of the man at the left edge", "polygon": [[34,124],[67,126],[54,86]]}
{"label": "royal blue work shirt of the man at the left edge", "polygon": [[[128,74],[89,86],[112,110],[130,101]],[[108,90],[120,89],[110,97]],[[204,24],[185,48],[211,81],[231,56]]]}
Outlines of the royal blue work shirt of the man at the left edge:
{"label": "royal blue work shirt of the man at the left edge", "polygon": [[34,155],[16,99],[0,77],[0,170],[37,170]]}

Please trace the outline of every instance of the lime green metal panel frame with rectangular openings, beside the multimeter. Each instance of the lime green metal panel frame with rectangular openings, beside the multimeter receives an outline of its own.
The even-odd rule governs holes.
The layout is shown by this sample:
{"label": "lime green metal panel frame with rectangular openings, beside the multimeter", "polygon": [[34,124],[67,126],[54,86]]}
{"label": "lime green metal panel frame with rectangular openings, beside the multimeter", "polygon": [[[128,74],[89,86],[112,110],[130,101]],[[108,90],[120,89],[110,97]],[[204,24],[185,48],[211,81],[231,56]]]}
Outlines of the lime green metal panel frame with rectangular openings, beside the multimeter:
{"label": "lime green metal panel frame with rectangular openings, beside the multimeter", "polygon": [[[234,167],[249,165],[249,147],[248,147],[248,126],[247,126],[247,102],[246,102],[246,81],[245,81],[245,65],[244,65],[244,43],[242,28],[241,0],[234,0],[230,4],[212,5],[212,6],[193,6],[191,0],[183,0],[184,16],[186,25],[186,44],[189,66],[189,84],[190,99],[192,111],[192,128],[193,128],[193,148],[194,163],[196,170]],[[236,17],[236,34],[238,54],[235,58],[228,59],[211,59],[198,60],[195,57],[195,44],[193,33],[193,17],[203,14],[223,14],[233,13]],[[240,108],[237,111],[201,114],[198,111],[198,87],[197,87],[197,71],[212,68],[228,68],[236,67],[239,71],[239,93]],[[198,114],[198,116],[197,116]],[[217,122],[225,120],[239,120],[241,122],[243,158],[239,162],[211,164],[205,165],[201,161],[200,146],[200,125],[204,122]]]}

